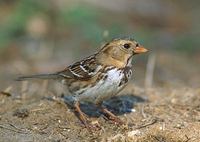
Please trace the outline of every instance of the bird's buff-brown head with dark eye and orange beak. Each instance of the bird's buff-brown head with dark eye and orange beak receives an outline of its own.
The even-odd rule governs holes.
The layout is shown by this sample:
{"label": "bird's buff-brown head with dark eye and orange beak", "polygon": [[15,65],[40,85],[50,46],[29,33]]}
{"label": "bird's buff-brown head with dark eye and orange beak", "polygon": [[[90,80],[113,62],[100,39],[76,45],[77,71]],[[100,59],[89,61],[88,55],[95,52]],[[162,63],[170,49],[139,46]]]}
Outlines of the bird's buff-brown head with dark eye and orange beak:
{"label": "bird's buff-brown head with dark eye and orange beak", "polygon": [[141,46],[135,40],[114,39],[105,44],[98,52],[99,60],[105,61],[106,64],[118,64],[118,67],[124,67],[133,55],[145,53],[148,50]]}

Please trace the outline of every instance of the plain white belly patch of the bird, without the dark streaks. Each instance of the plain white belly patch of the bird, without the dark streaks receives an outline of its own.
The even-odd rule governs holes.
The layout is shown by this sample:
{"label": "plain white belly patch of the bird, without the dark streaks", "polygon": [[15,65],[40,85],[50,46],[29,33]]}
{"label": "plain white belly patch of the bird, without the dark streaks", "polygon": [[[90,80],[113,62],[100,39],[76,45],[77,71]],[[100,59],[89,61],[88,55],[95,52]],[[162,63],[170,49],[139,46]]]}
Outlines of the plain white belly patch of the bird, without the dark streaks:
{"label": "plain white belly patch of the bird, without the dark streaks", "polygon": [[[84,88],[84,92],[78,95],[78,99],[82,101],[89,101],[97,103],[100,100],[110,98],[116,95],[125,84],[119,87],[123,78],[123,72],[117,69],[108,71],[107,78],[100,80],[95,86]],[[80,92],[83,90],[79,90]],[[79,93],[79,91],[77,93]]]}

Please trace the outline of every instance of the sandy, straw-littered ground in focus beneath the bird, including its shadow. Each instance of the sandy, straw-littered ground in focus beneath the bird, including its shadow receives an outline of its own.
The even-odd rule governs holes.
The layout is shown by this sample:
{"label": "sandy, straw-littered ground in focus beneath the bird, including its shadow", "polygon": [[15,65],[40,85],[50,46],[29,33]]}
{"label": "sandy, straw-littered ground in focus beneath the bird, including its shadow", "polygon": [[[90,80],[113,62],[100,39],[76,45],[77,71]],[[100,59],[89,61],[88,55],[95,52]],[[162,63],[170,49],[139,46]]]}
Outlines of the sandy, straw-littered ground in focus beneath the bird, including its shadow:
{"label": "sandy, straw-littered ground in focus beneath the bird, including its shadow", "polygon": [[[133,89],[134,88],[134,89]],[[161,95],[162,94],[162,95]],[[101,129],[89,132],[63,101],[1,95],[1,141],[192,141],[200,139],[200,90],[143,89],[129,85],[106,104],[126,122],[112,124],[83,105]],[[33,97],[33,96],[32,96]],[[148,99],[147,99],[148,98]]]}

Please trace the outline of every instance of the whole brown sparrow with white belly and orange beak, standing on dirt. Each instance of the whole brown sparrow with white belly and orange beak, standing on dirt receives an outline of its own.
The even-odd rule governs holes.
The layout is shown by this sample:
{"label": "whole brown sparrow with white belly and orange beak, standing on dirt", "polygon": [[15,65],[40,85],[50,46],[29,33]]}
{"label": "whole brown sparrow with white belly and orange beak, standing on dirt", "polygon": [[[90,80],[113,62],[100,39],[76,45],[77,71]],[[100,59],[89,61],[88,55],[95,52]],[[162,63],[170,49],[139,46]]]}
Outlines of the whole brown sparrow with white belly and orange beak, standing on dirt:
{"label": "whole brown sparrow with white belly and orange beak, standing on dirt", "polygon": [[81,101],[95,104],[109,120],[122,124],[102,103],[117,95],[128,84],[132,76],[133,56],[147,51],[134,39],[113,39],[93,55],[67,66],[64,70],[20,76],[17,81],[35,78],[60,81],[67,86],[69,95],[73,98],[75,112],[87,128],[90,128],[90,124],[88,116],[80,108]]}

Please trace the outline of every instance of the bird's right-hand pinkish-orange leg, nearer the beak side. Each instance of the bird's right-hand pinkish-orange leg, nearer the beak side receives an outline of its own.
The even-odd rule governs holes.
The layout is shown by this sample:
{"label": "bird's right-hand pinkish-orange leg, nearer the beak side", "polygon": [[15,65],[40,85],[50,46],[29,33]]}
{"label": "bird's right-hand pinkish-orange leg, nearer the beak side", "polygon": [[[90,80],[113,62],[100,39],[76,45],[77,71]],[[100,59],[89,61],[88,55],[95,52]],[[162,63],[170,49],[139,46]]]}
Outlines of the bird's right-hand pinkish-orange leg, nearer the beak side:
{"label": "bird's right-hand pinkish-orange leg, nearer the beak side", "polygon": [[101,111],[104,113],[104,115],[111,121],[117,124],[124,124],[124,122],[119,119],[116,115],[114,115],[112,112],[110,112],[107,108],[101,107]]}

